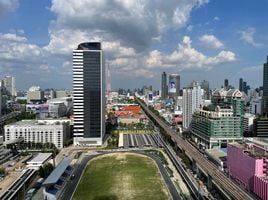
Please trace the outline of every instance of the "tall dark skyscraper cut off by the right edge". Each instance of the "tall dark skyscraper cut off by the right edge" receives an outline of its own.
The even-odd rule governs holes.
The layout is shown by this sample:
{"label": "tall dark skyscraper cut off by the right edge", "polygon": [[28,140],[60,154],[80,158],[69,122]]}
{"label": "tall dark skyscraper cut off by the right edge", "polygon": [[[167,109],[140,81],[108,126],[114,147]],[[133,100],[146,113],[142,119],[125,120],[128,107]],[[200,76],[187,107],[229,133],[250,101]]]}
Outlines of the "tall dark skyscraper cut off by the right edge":
{"label": "tall dark skyscraper cut off by the right edge", "polygon": [[268,56],[263,64],[263,106],[262,113],[268,115]]}

